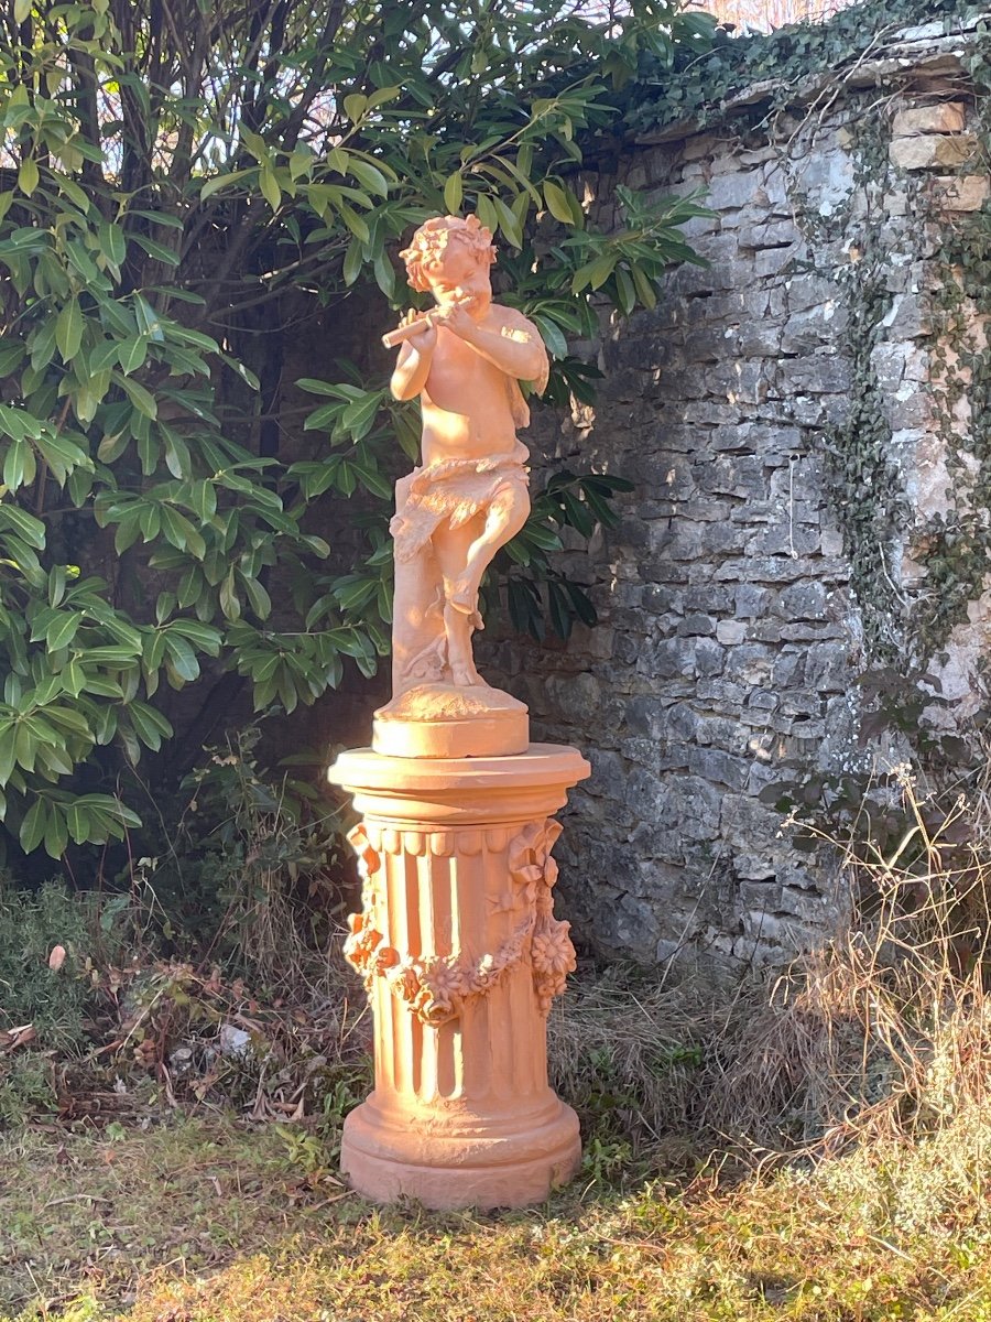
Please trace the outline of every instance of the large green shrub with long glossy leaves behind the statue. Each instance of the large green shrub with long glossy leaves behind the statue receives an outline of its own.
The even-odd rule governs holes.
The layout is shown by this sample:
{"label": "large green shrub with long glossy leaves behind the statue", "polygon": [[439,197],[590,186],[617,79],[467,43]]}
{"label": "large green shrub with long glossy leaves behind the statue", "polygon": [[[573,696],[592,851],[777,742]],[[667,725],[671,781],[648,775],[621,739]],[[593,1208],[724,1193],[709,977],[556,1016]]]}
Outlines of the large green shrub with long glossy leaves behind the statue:
{"label": "large green shrub with long glossy leaves behind the statue", "polygon": [[[691,201],[617,189],[626,225],[604,234],[575,192],[640,54],[711,29],[658,0],[625,9],[609,25],[560,0],[498,16],[488,0],[16,0],[0,25],[0,821],[25,853],[123,839],[122,773],[165,748],[152,791],[174,784],[206,713],[215,726],[242,689],[291,711],[346,660],[374,674],[386,506],[418,424],[346,358],[410,297],[394,256],[411,226],[466,209],[498,231],[501,296],[539,324],[560,402],[588,389],[568,336],[596,328],[593,297],[650,307],[695,259]],[[284,360],[318,317],[340,348],[330,379],[296,383],[312,407]],[[604,481],[548,486],[519,582],[546,578],[563,524],[595,526]],[[316,530],[342,527],[328,567]],[[560,629],[588,615],[577,587],[547,594]],[[532,592],[510,605],[534,623]],[[201,697],[164,695],[188,686]]]}

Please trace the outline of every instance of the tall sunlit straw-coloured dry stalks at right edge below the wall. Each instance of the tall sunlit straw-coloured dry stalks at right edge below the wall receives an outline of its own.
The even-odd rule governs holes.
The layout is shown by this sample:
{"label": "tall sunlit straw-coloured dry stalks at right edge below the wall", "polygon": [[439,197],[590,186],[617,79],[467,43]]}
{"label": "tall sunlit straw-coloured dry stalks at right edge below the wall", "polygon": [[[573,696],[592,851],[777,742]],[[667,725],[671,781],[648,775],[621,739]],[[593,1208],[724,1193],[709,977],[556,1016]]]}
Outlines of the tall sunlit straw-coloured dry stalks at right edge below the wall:
{"label": "tall sunlit straw-coloured dry stalks at right edge below the wall", "polygon": [[716,1128],[828,1151],[926,1133],[984,1104],[987,796],[939,812],[906,768],[897,779],[897,843],[846,842],[840,929],[737,1015],[706,1109]]}

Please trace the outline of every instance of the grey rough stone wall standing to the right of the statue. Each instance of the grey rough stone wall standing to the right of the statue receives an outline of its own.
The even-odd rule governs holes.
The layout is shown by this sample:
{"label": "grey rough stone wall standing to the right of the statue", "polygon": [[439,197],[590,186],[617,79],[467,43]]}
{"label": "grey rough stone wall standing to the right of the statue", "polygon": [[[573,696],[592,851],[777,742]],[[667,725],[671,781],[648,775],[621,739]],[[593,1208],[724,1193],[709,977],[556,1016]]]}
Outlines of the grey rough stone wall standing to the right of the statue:
{"label": "grey rough stone wall standing to the right of the statue", "polygon": [[[567,648],[488,644],[486,673],[530,705],[534,738],[595,768],[558,853],[564,911],[603,952],[780,962],[838,912],[830,855],[799,854],[758,796],[884,755],[858,746],[858,677],[908,646],[925,591],[910,525],[953,500],[926,292],[934,225],[982,205],[987,169],[941,33],[908,33],[908,58],[823,79],[786,112],[757,98],[717,131],[641,141],[589,180],[606,219],[624,181],[704,189],[716,213],[688,226],[710,264],[587,346],[606,378],[595,410],[530,434],[536,463],[636,483],[620,527],[568,558],[600,625]],[[856,443],[867,405],[883,440],[864,501],[830,453],[844,427]],[[979,646],[974,628],[951,640],[961,694]]]}

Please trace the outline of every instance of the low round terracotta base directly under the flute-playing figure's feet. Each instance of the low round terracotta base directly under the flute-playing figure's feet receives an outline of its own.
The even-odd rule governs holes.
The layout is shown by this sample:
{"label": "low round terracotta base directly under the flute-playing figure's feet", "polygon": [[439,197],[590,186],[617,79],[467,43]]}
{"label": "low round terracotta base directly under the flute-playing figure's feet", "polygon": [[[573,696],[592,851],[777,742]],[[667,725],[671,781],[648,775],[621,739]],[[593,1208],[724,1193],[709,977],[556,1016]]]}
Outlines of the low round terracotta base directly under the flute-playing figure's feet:
{"label": "low round terracotta base directly under the flute-playing figure's feet", "polygon": [[379,707],[371,735],[386,758],[505,758],[529,743],[525,703],[488,683],[419,683]]}

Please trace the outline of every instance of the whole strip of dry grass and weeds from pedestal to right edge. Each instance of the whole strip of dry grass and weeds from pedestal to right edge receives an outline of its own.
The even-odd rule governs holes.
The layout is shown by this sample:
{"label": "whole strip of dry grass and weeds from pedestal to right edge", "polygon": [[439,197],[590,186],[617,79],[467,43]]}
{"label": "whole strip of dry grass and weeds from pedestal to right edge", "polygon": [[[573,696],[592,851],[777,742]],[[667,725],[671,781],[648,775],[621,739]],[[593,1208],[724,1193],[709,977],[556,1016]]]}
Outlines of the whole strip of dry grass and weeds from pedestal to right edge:
{"label": "whole strip of dry grass and weeds from pedestal to right edge", "polygon": [[905,768],[897,788],[896,842],[860,830],[839,846],[847,912],[784,974],[743,981],[728,1007],[725,990],[624,969],[579,982],[551,1022],[551,1064],[592,1129],[605,1118],[633,1154],[675,1133],[815,1158],[986,1104],[991,800],[984,787],[941,812]]}

